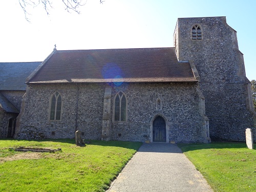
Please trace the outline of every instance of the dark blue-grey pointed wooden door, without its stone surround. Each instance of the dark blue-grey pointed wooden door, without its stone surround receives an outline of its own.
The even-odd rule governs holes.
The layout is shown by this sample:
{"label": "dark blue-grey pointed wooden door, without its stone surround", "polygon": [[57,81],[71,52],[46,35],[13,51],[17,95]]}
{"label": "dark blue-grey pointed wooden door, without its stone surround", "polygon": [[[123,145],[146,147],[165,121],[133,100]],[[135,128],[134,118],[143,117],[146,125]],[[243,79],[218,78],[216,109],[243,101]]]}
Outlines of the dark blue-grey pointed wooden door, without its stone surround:
{"label": "dark blue-grey pointed wooden door, without its stone surround", "polygon": [[153,121],[153,142],[166,142],[166,124],[161,116],[157,116]]}

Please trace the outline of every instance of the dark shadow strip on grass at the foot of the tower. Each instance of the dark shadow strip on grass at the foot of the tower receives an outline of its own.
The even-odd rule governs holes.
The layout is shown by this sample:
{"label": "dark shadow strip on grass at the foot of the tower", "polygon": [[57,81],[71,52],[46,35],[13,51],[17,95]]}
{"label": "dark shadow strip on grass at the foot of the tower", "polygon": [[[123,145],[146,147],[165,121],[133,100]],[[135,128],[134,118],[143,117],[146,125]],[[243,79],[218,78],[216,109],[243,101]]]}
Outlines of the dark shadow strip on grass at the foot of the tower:
{"label": "dark shadow strip on grass at the foot of the tower", "polygon": [[[183,152],[194,151],[194,150],[204,150],[209,148],[247,148],[245,142],[211,142],[211,143],[191,143],[191,144],[183,144],[180,143],[178,146],[181,148]],[[254,144],[254,150],[256,146]]]}

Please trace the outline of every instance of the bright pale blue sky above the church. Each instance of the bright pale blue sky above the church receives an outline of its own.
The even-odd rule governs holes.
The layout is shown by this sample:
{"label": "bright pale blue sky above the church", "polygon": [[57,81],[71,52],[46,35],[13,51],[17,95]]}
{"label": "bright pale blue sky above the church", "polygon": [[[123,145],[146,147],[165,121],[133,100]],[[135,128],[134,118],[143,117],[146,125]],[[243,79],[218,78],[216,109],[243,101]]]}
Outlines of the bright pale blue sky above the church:
{"label": "bright pale blue sky above the church", "polygon": [[42,61],[53,50],[173,47],[179,17],[226,16],[237,31],[246,75],[256,79],[256,1],[87,0],[81,14],[53,0],[48,16],[39,5],[25,19],[18,0],[0,6],[0,62]]}

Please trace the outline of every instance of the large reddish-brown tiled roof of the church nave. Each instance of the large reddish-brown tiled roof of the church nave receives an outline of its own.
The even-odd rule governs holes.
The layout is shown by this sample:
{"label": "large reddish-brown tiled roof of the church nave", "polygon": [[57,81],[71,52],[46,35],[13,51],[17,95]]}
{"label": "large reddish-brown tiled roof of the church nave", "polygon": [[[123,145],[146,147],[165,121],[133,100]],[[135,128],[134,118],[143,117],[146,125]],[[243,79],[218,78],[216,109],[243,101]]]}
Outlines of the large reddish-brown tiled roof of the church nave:
{"label": "large reddish-brown tiled roof of the church nave", "polygon": [[197,82],[175,48],[53,51],[28,83]]}

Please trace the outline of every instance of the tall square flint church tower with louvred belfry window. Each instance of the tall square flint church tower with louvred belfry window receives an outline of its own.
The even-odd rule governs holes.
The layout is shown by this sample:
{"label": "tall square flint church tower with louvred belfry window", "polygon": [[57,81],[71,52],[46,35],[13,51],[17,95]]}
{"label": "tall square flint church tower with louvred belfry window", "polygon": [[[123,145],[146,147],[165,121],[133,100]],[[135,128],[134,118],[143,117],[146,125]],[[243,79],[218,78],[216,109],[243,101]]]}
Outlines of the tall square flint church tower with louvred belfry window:
{"label": "tall square flint church tower with louvred belfry window", "polygon": [[253,130],[250,82],[245,76],[237,32],[226,17],[178,18],[174,47],[179,61],[191,60],[199,73],[212,140],[241,140]]}

